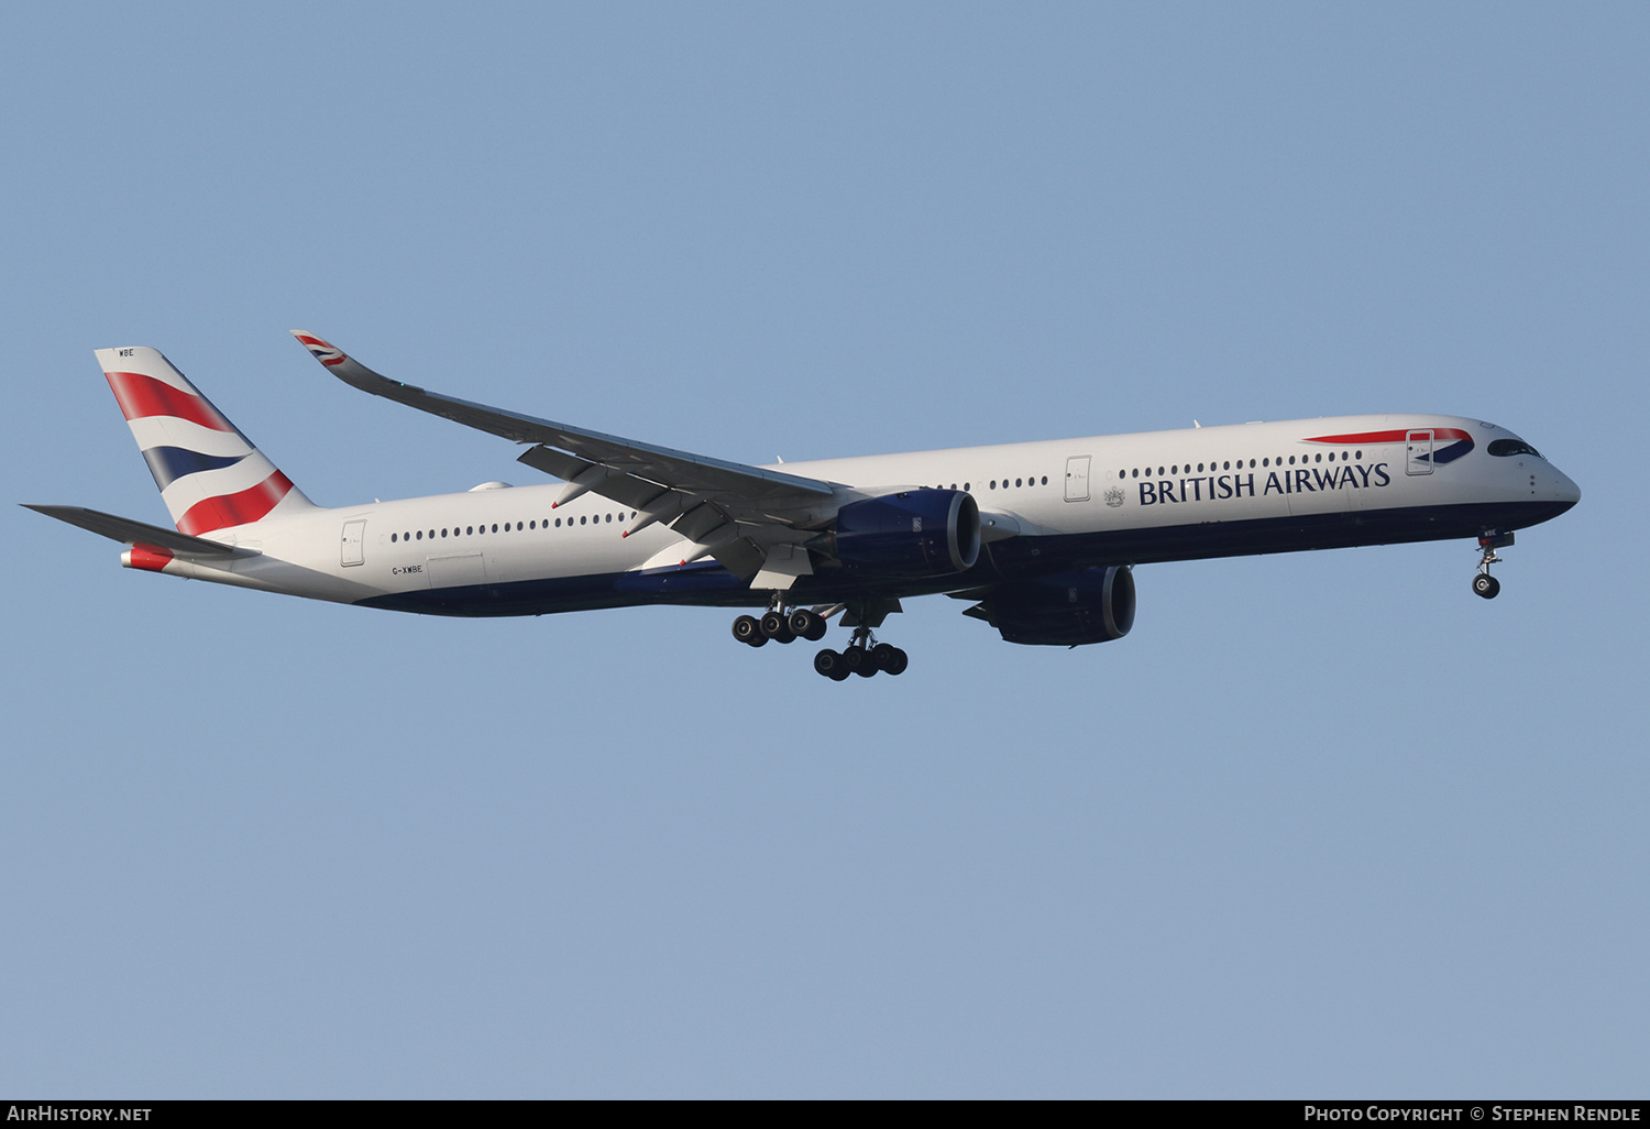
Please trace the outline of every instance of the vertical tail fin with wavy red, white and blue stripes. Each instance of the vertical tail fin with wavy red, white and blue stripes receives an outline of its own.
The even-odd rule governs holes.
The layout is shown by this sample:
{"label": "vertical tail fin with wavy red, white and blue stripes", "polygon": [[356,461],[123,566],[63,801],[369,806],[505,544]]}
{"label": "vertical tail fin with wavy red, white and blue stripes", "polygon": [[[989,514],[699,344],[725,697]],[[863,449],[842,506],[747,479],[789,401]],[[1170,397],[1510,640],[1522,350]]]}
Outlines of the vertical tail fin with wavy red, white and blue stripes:
{"label": "vertical tail fin with wavy red, white and blue stripes", "polygon": [[180,533],[196,536],[315,507],[155,348],[99,348]]}

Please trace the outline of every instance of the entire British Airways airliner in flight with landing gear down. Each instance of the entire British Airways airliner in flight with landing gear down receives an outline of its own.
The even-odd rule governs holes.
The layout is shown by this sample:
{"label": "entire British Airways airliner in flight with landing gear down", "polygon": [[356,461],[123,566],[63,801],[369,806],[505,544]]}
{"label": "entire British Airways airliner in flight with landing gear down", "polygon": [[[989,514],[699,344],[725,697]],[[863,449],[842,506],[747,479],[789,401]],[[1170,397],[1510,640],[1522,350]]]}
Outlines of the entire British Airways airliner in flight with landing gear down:
{"label": "entire British Airways airliner in flight with landing gear down", "polygon": [[[97,361],[175,528],[66,505],[127,568],[432,616],[698,604],[749,609],[751,647],[818,642],[837,682],[901,673],[876,639],[947,594],[1015,644],[1129,634],[1138,564],[1477,538],[1472,589],[1513,531],[1581,490],[1516,434],[1457,416],[1338,416],[746,465],[455,399],[294,337],[346,385],[525,447],[559,484],[315,505],[158,350]],[[757,612],[757,614],[751,614]]]}

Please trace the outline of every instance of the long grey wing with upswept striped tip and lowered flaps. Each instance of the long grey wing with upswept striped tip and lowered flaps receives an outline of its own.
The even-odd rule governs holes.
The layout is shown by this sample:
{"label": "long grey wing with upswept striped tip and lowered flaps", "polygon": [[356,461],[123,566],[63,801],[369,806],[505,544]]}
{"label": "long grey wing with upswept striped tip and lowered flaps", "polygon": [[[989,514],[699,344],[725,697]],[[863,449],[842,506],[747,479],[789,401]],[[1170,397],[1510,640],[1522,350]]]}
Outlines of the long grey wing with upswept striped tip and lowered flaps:
{"label": "long grey wing with upswept striped tip and lowered flaps", "polygon": [[[556,505],[586,492],[612,498],[637,512],[624,536],[655,522],[668,523],[690,543],[681,553],[672,550],[670,564],[676,560],[714,556],[736,574],[749,578],[772,556],[777,574],[805,576],[807,571],[797,569],[805,569],[807,555],[790,546],[808,540],[845,502],[863,497],[835,482],[673,451],[442,396],[381,376],[314,333],[292,330],[292,335],[351,388],[515,442],[533,444],[520,456],[520,462],[568,482]],[[789,586],[789,581],[774,586]]]}

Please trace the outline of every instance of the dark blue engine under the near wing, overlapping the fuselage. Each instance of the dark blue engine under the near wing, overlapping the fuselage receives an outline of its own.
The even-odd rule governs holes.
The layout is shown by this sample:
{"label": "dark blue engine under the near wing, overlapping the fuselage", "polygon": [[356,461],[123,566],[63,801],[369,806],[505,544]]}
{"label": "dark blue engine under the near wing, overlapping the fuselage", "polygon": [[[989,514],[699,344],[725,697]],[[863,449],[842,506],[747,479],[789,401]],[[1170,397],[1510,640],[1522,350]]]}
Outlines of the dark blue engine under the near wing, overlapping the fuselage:
{"label": "dark blue engine under the near wing, overlapping the fuselage", "polygon": [[980,507],[962,490],[901,490],[837,512],[830,555],[878,576],[949,576],[980,556]]}

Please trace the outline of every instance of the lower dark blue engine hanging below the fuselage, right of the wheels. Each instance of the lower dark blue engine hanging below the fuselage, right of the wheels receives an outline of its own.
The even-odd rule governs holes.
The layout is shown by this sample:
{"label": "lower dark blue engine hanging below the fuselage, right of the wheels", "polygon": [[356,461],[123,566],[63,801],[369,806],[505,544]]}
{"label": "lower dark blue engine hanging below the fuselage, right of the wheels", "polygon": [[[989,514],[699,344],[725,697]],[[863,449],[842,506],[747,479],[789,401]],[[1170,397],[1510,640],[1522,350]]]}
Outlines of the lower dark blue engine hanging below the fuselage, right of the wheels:
{"label": "lower dark blue engine hanging below the fuselage, right of the wheels", "polygon": [[983,619],[1008,642],[1079,647],[1122,639],[1134,627],[1134,573],[1112,566],[1003,584],[964,614]]}

